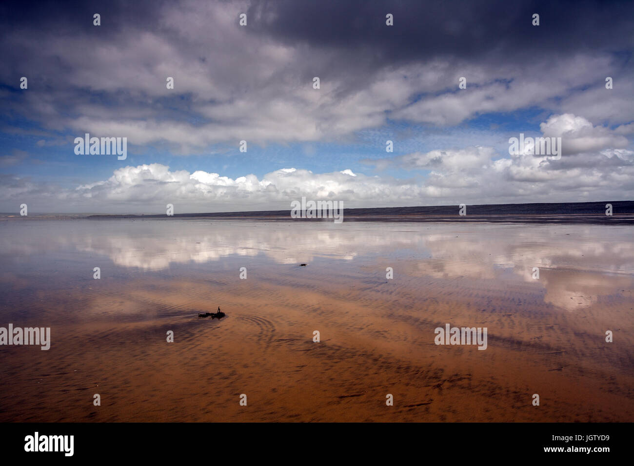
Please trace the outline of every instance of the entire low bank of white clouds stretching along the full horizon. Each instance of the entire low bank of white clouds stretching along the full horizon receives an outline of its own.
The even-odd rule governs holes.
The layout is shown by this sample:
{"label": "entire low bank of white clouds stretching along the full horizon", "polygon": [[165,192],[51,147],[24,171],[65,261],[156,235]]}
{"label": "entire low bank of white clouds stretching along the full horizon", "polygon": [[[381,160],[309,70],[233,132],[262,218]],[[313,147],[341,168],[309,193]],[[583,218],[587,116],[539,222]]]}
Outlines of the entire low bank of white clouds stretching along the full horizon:
{"label": "entire low bank of white clouds stretching along the full horizon", "polygon": [[[618,143],[621,138],[574,115],[556,115],[543,129],[572,135],[585,148],[605,147],[606,141]],[[589,143],[590,135],[597,141]],[[316,173],[292,167],[261,178],[255,174],[231,178],[216,172],[171,171],[167,165],[143,164],[122,167],[108,179],[74,190],[5,177],[0,198],[10,206],[31,199],[56,212],[124,213],[160,213],[166,204],[174,204],[177,213],[285,210],[292,200],[304,196],[344,201],[347,208],[634,198],[634,152],[621,148],[552,160],[524,153],[498,159],[493,148],[472,146],[366,162],[429,174],[403,179],[368,176],[351,169]]]}

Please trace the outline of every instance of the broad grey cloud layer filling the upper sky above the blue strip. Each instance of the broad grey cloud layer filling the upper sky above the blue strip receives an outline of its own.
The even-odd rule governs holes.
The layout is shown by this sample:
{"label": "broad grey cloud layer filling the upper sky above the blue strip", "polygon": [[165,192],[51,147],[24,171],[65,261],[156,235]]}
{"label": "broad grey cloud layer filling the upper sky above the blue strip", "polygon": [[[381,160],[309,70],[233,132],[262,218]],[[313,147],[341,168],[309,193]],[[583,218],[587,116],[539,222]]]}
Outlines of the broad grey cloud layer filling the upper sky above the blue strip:
{"label": "broad grey cloud layer filling the upper sky above the blue strip", "polygon": [[28,75],[7,110],[51,133],[127,136],[178,155],[242,139],[346,141],[389,121],[454,126],[536,106],[630,124],[634,89],[623,77],[633,65],[612,53],[612,38],[632,47],[634,6],[539,7],[532,27],[531,2],[462,3],[451,15],[418,2],[113,2],[94,27],[87,4],[34,6],[8,12],[0,81],[17,89],[14,70]]}

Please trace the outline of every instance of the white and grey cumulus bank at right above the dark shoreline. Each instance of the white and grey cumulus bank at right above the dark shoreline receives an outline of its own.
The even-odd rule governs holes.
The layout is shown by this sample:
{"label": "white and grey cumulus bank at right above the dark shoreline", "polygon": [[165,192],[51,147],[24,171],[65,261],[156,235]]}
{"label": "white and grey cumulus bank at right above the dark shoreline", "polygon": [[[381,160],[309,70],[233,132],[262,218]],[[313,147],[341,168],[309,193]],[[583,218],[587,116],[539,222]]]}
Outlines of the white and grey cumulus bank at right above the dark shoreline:
{"label": "white and grey cumulus bank at right above the dark shoreline", "polygon": [[611,186],[619,186],[619,198],[634,195],[634,152],[623,148],[624,136],[571,114],[553,115],[540,127],[544,136],[562,137],[560,160],[527,153],[498,158],[492,147],[472,146],[363,162],[378,169],[429,171],[418,186],[425,197],[421,204],[581,202],[590,200],[590,193],[614,197]]}

